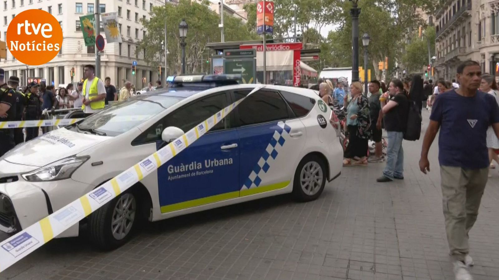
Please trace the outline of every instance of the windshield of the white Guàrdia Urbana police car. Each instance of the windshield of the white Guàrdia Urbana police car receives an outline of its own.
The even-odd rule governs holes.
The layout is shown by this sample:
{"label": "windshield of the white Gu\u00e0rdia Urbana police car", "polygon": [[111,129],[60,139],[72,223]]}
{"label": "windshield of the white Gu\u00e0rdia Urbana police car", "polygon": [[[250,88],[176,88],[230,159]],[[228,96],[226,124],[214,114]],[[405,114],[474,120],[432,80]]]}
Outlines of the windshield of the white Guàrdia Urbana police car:
{"label": "windshield of the white Gu\u00e0rdia Urbana police car", "polygon": [[118,136],[151,119],[183,98],[142,95],[117,103],[68,128],[81,133]]}

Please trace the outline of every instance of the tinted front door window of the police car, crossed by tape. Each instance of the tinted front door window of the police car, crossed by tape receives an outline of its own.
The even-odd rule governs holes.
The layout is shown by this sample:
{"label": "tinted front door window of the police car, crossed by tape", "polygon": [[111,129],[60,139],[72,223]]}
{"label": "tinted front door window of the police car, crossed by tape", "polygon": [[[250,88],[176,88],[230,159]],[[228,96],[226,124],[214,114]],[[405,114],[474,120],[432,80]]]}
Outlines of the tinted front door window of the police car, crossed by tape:
{"label": "tinted front door window of the police car, crossed by tape", "polygon": [[[133,140],[132,144],[137,145],[161,140],[161,134],[167,127],[177,127],[184,132],[188,132],[194,126],[213,116],[228,105],[229,102],[227,101],[226,93],[220,93],[194,101],[165,116],[162,120]],[[226,117],[222,122],[212,128],[210,132],[229,127],[229,118]]]}

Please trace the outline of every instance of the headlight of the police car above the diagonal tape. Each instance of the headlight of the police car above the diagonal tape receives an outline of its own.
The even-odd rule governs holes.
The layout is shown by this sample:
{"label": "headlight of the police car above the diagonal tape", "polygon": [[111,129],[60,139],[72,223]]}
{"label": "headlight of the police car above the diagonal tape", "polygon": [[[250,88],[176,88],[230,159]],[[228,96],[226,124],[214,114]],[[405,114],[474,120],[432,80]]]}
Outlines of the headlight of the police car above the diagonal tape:
{"label": "headlight of the police car above the diagonal tape", "polygon": [[89,156],[71,156],[55,162],[52,162],[46,166],[36,169],[32,172],[22,174],[22,177],[26,181],[30,182],[43,182],[43,181],[55,181],[62,180],[71,177],[71,174],[80,167],[85,161],[87,161]]}

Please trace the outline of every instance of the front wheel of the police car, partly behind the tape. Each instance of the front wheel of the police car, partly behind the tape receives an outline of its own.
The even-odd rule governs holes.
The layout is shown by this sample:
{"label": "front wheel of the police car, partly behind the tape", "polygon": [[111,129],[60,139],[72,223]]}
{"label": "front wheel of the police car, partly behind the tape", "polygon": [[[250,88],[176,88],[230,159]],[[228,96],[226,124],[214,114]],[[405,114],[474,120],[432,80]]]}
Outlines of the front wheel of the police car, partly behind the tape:
{"label": "front wheel of the police car, partly behind the tape", "polygon": [[137,218],[136,196],[122,193],[90,215],[90,239],[100,249],[116,249],[129,240]]}

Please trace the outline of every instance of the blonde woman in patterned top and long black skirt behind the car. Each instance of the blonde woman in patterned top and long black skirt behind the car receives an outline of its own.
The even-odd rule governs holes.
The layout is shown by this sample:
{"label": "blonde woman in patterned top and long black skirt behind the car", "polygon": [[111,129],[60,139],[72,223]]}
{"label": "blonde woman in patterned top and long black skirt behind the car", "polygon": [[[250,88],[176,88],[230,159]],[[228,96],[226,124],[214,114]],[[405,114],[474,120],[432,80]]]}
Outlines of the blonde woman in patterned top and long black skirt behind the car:
{"label": "blonde woman in patterned top and long black skirt behind the car", "polygon": [[362,95],[362,84],[353,82],[350,86],[352,99],[348,95],[343,99],[347,107],[345,129],[348,131],[348,146],[346,147],[343,165],[367,165],[367,140],[371,137],[371,117],[369,115],[369,101]]}

